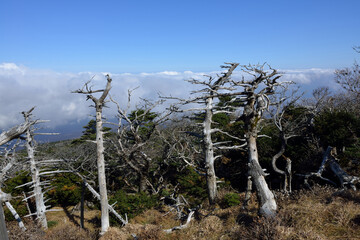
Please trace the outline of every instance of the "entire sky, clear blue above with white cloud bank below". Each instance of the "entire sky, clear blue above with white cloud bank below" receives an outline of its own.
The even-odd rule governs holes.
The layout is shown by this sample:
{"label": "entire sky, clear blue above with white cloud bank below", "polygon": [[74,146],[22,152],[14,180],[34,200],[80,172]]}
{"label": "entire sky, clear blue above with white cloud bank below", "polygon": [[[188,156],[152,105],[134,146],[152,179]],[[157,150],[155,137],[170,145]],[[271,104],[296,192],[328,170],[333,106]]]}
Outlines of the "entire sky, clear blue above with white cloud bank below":
{"label": "entire sky, clear blue above with white cloud bank below", "polygon": [[[125,100],[181,95],[223,62],[268,62],[306,89],[359,57],[359,0],[0,1],[0,132],[36,105],[52,126],[92,113],[71,90],[96,74]],[[5,103],[5,104],[4,104]],[[80,130],[81,131],[81,130]]]}

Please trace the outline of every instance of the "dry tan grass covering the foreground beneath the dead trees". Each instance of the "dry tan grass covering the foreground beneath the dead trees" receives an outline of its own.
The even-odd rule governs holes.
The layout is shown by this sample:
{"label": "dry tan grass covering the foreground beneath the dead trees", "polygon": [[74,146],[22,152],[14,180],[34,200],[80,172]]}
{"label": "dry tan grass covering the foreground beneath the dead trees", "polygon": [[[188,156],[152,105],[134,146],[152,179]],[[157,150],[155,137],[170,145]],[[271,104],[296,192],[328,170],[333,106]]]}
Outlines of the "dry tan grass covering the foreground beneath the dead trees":
{"label": "dry tan grass covering the foreground beneath the dead trees", "polygon": [[[226,194],[225,192],[223,195]],[[315,187],[299,191],[290,197],[278,194],[279,211],[275,218],[257,216],[255,196],[249,210],[241,206],[226,209],[202,208],[186,229],[166,234],[181,224],[169,209],[152,209],[131,219],[123,228],[110,228],[101,240],[112,239],[360,239],[360,192],[338,191]],[[243,199],[243,194],[240,194]],[[165,215],[166,214],[166,215]],[[98,211],[85,214],[88,231],[78,227],[78,213],[71,217],[64,212],[48,214],[56,226],[43,232],[27,223],[29,231],[20,232],[16,224],[9,224],[10,239],[99,239]],[[30,226],[30,227],[29,227]]]}

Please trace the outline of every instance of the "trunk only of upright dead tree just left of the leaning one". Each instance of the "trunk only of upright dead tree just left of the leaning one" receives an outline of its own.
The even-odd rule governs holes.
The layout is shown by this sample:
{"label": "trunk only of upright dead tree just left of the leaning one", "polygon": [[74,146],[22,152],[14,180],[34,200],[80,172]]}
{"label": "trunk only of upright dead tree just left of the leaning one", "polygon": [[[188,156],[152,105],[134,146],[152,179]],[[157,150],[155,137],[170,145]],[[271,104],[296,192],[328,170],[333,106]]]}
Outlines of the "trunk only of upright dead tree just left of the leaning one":
{"label": "trunk only of upright dead tree just left of the leaning one", "polygon": [[[212,94],[210,94],[212,95]],[[203,123],[204,127],[204,147],[205,147],[205,169],[206,169],[206,184],[208,190],[208,198],[210,205],[216,203],[217,186],[216,186],[216,175],[214,168],[214,147],[211,139],[211,122],[213,117],[212,112],[213,98],[206,98],[206,112],[205,120]]]}

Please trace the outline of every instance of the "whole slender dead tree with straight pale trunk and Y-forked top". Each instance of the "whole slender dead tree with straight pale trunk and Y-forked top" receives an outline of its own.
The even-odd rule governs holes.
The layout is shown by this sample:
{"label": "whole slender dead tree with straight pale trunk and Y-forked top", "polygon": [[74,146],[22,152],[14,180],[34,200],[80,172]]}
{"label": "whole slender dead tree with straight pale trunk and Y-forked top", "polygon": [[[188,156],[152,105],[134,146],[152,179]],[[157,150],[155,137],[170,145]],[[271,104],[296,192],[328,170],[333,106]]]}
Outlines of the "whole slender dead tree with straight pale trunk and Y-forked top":
{"label": "whole slender dead tree with straight pale trunk and Y-forked top", "polygon": [[[101,205],[101,234],[104,234],[109,226],[109,207],[106,189],[106,176],[105,176],[105,159],[104,159],[104,139],[103,139],[103,120],[102,111],[105,105],[105,99],[111,89],[111,81],[109,75],[107,77],[107,84],[105,89],[92,90],[89,86],[90,81],[85,83],[82,89],[74,91],[74,93],[86,94],[87,100],[91,99],[95,104],[96,110],[96,146],[97,146],[97,168],[98,168],[98,181],[100,190],[100,205]],[[94,97],[94,93],[102,93],[100,98]]]}

